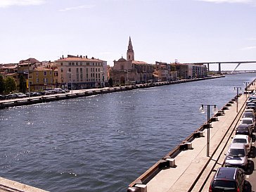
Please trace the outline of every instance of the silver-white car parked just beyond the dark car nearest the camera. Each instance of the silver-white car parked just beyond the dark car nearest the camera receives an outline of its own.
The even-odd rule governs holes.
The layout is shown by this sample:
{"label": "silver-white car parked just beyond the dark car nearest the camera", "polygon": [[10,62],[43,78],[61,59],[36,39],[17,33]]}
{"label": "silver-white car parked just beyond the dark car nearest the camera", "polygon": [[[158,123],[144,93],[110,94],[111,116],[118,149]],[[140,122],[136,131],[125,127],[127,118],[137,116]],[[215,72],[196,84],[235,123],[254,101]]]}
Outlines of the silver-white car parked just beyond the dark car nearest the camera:
{"label": "silver-white car parked just beyond the dark car nearest the camera", "polygon": [[231,143],[225,158],[225,167],[248,167],[248,153],[244,143]]}

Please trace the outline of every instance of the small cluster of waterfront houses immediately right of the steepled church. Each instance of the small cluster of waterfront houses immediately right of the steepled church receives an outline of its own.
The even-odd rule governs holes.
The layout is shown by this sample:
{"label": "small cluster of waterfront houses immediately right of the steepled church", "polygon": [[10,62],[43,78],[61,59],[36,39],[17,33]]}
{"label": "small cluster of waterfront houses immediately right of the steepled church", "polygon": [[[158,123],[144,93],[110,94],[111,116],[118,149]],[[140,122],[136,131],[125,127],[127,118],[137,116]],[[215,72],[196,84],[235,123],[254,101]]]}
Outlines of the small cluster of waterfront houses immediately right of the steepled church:
{"label": "small cluster of waterfront houses immediately right of the steepled church", "polygon": [[153,72],[153,77],[156,82],[165,82],[177,80],[177,71],[168,64],[155,61],[155,70]]}

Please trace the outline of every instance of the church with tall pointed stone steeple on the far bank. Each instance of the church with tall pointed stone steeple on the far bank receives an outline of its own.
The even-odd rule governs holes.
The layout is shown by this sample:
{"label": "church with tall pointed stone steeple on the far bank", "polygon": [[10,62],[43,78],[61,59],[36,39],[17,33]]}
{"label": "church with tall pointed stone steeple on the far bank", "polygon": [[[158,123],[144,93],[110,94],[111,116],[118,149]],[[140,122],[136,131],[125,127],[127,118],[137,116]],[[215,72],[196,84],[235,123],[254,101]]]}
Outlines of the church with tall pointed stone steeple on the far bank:
{"label": "church with tall pointed stone steeple on the far bank", "polygon": [[131,37],[127,49],[127,59],[114,60],[114,66],[108,70],[113,84],[133,84],[148,82],[153,79],[153,65],[144,61],[134,60],[134,49]]}

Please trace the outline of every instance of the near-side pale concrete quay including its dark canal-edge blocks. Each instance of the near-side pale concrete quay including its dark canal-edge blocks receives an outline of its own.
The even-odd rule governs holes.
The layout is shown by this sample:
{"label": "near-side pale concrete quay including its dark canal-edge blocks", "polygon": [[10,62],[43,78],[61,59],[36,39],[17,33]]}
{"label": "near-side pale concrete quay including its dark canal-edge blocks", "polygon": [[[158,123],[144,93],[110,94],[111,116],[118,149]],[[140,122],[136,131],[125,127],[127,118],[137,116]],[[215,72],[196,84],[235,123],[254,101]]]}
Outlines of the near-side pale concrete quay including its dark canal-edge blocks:
{"label": "near-side pale concrete quay including its dark canal-edge blocks", "polygon": [[[256,89],[255,80],[248,85],[249,89]],[[231,99],[210,118],[210,129],[205,122],[129,184],[127,192],[196,192],[202,191],[202,188],[207,191],[212,170],[223,165],[224,153],[231,142],[235,127],[241,120],[247,98],[247,94],[239,94],[238,103],[236,97]],[[209,148],[205,134],[210,137]],[[205,155],[207,151],[210,151],[210,155]]]}

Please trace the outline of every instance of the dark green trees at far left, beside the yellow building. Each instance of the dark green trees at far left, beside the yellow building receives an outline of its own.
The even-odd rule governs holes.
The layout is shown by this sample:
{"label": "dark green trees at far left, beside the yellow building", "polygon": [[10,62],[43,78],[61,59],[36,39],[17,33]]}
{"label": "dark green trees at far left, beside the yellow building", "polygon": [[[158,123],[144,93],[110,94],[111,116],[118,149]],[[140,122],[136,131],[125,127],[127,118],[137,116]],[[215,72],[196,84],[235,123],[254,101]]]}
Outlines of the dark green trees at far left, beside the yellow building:
{"label": "dark green trees at far left, beside the yellow building", "polygon": [[0,94],[10,94],[13,92],[20,91],[25,93],[27,91],[27,82],[23,75],[19,76],[19,84],[11,76],[4,78],[3,75],[0,75]]}

